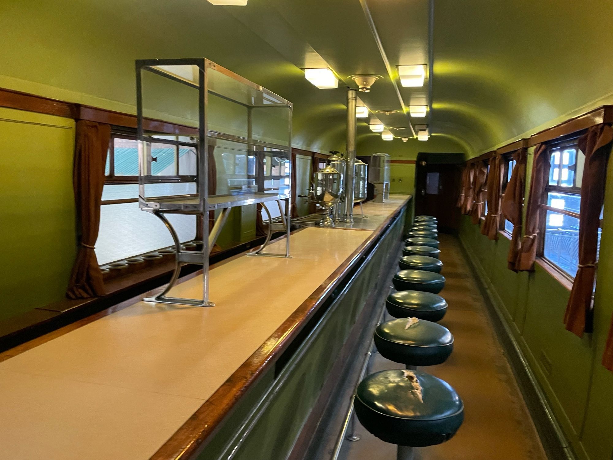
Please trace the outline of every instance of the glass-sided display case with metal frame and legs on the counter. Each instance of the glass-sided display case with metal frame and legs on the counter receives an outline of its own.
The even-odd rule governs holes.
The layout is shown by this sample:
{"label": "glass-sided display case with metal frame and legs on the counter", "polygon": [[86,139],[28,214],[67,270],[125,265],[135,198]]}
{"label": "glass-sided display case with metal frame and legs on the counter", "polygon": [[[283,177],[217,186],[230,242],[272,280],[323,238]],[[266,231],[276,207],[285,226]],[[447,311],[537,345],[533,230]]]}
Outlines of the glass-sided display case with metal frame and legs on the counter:
{"label": "glass-sided display case with metal frame and legs on the counter", "polygon": [[[144,300],[211,307],[209,255],[233,207],[261,204],[268,215],[268,237],[249,255],[290,257],[292,104],[205,58],[137,60],[136,97],[139,206],[166,225],[177,250],[170,283]],[[156,139],[169,135],[197,146],[192,158],[175,165],[181,177],[191,178],[189,194],[159,196],[159,188],[148,188],[161,182],[152,167]],[[286,230],[284,253],[264,250],[273,227],[266,207],[271,202],[277,203]],[[168,214],[197,216],[202,251],[181,250]],[[202,299],[167,295],[184,264],[202,265]]]}

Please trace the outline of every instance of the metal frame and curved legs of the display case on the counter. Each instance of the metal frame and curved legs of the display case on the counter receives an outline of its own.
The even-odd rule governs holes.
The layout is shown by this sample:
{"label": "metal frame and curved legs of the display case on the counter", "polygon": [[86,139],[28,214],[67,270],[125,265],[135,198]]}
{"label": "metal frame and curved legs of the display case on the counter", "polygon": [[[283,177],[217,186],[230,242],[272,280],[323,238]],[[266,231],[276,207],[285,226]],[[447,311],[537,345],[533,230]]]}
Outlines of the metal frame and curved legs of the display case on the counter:
{"label": "metal frame and curved legs of the display case on the counter", "polygon": [[[186,72],[186,70],[188,72]],[[247,152],[256,152],[264,155],[270,151],[276,152],[275,155],[281,159],[286,159],[291,164],[291,139],[292,139],[292,103],[272,91],[263,88],[256,83],[250,82],[240,75],[235,74],[228,69],[213,63],[206,58],[194,59],[138,59],[135,61],[136,71],[136,99],[137,99],[137,140],[139,141],[139,207],[141,210],[147,211],[158,217],[169,230],[175,249],[177,258],[175,260],[175,269],[169,284],[162,290],[161,293],[154,297],[145,298],[145,301],[159,302],[166,304],[192,305],[202,307],[212,307],[215,304],[209,299],[209,256],[210,251],[218,239],[219,233],[226,223],[230,211],[233,207],[261,204],[262,210],[268,215],[268,234],[264,244],[248,253],[250,256],[272,256],[290,258],[289,255],[289,234],[291,231],[291,174],[287,176],[284,186],[278,186],[277,189],[269,187],[264,189],[264,179],[257,178],[248,181],[242,188],[238,187],[235,193],[216,194],[210,193],[209,190],[209,167],[210,167],[210,149],[215,148],[218,143],[231,143],[232,145],[240,145]],[[143,107],[143,74],[152,72],[159,77],[164,77],[177,85],[188,85],[193,90],[197,90],[197,120],[190,120],[189,125],[177,125],[173,120],[157,120],[153,117],[147,117],[147,108]],[[190,74],[191,72],[191,74]],[[166,80],[164,80],[166,82]],[[222,83],[219,83],[222,82]],[[166,84],[166,83],[165,83]],[[215,86],[222,87],[224,84],[229,90],[216,91]],[[234,90],[234,94],[232,91]],[[172,99],[174,94],[166,94],[167,99]],[[209,110],[209,96],[218,96],[230,105],[236,104],[238,110],[230,111],[232,113],[241,113],[240,117],[245,117],[245,120],[240,120],[246,126],[246,135],[240,136],[235,132],[224,132],[223,130],[209,129],[211,123],[211,112]],[[179,99],[179,98],[177,98]],[[281,143],[268,142],[268,140],[259,139],[254,135],[253,130],[253,111],[254,109],[287,109],[287,114],[281,117],[281,129],[284,129],[283,123],[287,121],[287,131],[283,132]],[[246,109],[246,110],[243,110]],[[268,110],[270,111],[270,110]],[[259,112],[262,113],[262,112]],[[285,113],[284,110],[282,113]],[[236,116],[233,115],[235,118]],[[240,118],[239,117],[239,118]],[[279,118],[279,117],[278,117]],[[219,126],[220,123],[216,123]],[[147,185],[156,183],[156,177],[151,175],[151,144],[154,144],[156,136],[170,134],[167,132],[167,126],[173,126],[177,133],[177,126],[181,134],[187,134],[193,139],[197,145],[197,164],[196,176],[196,193],[188,195],[172,195],[172,196],[148,196],[146,193]],[[265,152],[266,151],[266,152]],[[264,158],[264,157],[262,157]],[[262,169],[262,168],[256,168]],[[254,172],[253,177],[256,177]],[[261,174],[264,174],[263,172]],[[217,180],[215,179],[215,183]],[[274,182],[274,181],[273,181]],[[281,212],[281,221],[283,229],[286,231],[286,244],[284,253],[270,253],[265,251],[265,247],[270,242],[272,234],[272,219],[266,204],[276,202]],[[284,202],[284,209],[281,205]],[[258,212],[258,211],[256,211]],[[209,229],[209,220],[213,213],[217,213],[213,228]],[[197,234],[202,237],[202,251],[187,251],[181,247],[181,242],[178,239],[177,232],[172,226],[172,223],[166,217],[167,214],[183,214],[196,215],[196,225],[198,227]],[[170,297],[167,294],[177,282],[181,267],[185,264],[202,265],[202,299],[187,299],[183,297]]]}

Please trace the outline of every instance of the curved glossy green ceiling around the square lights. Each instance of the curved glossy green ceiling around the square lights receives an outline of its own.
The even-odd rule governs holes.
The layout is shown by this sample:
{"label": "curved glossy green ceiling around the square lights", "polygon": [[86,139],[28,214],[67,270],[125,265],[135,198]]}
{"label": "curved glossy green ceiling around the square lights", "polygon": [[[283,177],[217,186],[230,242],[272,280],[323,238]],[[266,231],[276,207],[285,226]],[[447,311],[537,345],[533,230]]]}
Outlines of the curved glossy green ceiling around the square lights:
{"label": "curved glossy green ceiling around the square lights", "polygon": [[[470,155],[611,93],[608,0],[34,0],[0,9],[0,86],[133,110],[134,59],[207,57],[292,101],[295,146],[316,151],[344,148],[354,74],[382,77],[360,98],[371,112],[398,111],[375,114],[398,137],[425,123],[440,148]],[[402,64],[428,64],[423,88],[399,85]],[[305,67],[331,67],[339,88],[318,90]],[[427,118],[411,120],[411,104],[429,105]],[[367,123],[358,132],[373,144]]]}

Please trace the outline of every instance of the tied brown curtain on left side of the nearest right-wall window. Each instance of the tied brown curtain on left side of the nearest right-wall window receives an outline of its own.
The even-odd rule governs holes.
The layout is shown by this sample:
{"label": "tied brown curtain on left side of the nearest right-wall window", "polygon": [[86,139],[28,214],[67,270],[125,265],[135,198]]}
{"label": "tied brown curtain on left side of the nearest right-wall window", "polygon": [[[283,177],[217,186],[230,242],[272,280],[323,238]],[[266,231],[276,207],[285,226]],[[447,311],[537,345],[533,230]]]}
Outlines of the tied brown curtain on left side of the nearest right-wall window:
{"label": "tied brown curtain on left side of the nearest right-wall window", "polygon": [[517,270],[530,272],[534,269],[536,250],[539,242],[541,229],[541,202],[543,191],[549,181],[549,155],[547,145],[538,144],[532,161],[532,177],[530,179],[530,191],[526,202],[526,221],[524,225],[524,238],[519,253],[517,254]]}

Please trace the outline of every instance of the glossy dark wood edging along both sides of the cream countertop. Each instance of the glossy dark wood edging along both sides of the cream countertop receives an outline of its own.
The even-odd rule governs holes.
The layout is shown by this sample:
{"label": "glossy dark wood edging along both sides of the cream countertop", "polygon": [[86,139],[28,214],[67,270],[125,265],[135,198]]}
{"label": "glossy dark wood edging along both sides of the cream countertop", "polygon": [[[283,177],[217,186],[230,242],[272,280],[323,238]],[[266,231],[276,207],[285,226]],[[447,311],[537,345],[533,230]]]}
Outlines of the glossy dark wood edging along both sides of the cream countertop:
{"label": "glossy dark wood edging along both sides of the cream countertop", "polygon": [[[294,339],[305,324],[307,324],[313,313],[324,304],[333,289],[340,284],[344,276],[356,265],[365,251],[367,251],[376,242],[379,236],[383,234],[384,229],[386,229],[400,212],[405,209],[412,198],[412,195],[408,195],[402,204],[398,204],[398,208],[392,212],[310,296],[307,297],[300,307],[298,307],[298,309],[296,309],[294,313],[292,313],[232,375],[230,375],[223,385],[221,385],[202,406],[200,406],[188,421],[186,421],[161,448],[159,448],[151,457],[151,460],[185,460],[196,453],[199,447],[204,447],[203,443],[205,439],[218,429],[224,418],[229,415],[232,408],[234,408],[235,404],[240,400],[240,397],[242,397],[249,387],[253,385],[259,375],[274,365],[276,358],[286,350],[288,345],[292,342],[292,339]],[[302,229],[304,228],[297,229],[292,232],[292,234]],[[283,238],[284,236],[281,236],[276,240]],[[230,260],[244,255],[245,252],[221,261],[213,267],[226,264]],[[200,270],[186,275],[181,278],[181,282],[194,278],[199,274]],[[145,295],[153,294],[159,291],[159,289],[162,288],[153,289]],[[67,334],[70,331],[82,328],[86,324],[104,318],[104,316],[126,309],[140,302],[142,297],[143,294],[139,294],[136,297],[132,297],[132,299],[108,307],[82,320],[67,324],[63,328],[48,332],[48,334],[41,335],[17,347],[10,348],[10,350],[0,353],[0,362],[6,361],[21,353],[25,353],[25,351],[31,350],[57,337],[61,337],[61,335]]]}

